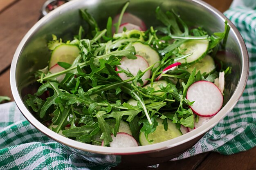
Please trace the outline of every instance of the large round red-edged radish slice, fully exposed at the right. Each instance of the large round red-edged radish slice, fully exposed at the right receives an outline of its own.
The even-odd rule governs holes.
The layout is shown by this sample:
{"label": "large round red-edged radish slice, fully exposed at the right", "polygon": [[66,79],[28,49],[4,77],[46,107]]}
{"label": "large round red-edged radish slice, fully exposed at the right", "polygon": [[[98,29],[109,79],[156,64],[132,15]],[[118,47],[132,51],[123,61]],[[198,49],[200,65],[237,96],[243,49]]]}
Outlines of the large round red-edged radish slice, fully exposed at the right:
{"label": "large round red-edged radish slice, fully exposed at the right", "polygon": [[198,81],[193,83],[187,91],[186,98],[193,102],[190,108],[202,117],[216,115],[223,104],[220,89],[212,82]]}

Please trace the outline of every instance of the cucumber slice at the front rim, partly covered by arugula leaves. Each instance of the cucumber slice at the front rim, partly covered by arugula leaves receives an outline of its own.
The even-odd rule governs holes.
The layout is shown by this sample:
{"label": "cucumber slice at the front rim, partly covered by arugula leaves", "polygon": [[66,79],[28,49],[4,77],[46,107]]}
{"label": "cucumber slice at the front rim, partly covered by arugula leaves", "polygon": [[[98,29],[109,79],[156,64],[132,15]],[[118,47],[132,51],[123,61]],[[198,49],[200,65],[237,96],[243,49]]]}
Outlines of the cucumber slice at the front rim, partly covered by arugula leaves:
{"label": "cucumber slice at the front rim, partly covered by arugula leaves", "polygon": [[[167,131],[164,130],[164,125],[162,125],[163,119],[157,119],[158,126],[157,129],[148,134],[148,140],[154,140],[151,144],[156,144],[159,142],[167,141],[170,139],[173,139],[175,137],[179,137],[182,135],[182,132],[176,128],[176,124],[173,124],[171,120],[167,120],[168,123],[168,129]],[[143,145],[150,145],[150,143],[147,141],[144,132],[139,133],[139,143]]]}

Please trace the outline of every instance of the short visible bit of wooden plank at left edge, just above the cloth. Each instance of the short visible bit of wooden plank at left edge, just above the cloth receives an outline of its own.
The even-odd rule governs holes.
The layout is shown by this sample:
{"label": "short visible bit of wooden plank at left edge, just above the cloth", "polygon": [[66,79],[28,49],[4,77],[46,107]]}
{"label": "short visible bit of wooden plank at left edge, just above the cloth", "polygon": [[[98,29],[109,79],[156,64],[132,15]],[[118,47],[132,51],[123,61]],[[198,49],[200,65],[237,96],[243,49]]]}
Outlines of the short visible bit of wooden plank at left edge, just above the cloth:
{"label": "short visible bit of wooden plank at left edge, just above the cloth", "polygon": [[0,96],[8,96],[13,101],[10,86],[10,69],[0,75]]}

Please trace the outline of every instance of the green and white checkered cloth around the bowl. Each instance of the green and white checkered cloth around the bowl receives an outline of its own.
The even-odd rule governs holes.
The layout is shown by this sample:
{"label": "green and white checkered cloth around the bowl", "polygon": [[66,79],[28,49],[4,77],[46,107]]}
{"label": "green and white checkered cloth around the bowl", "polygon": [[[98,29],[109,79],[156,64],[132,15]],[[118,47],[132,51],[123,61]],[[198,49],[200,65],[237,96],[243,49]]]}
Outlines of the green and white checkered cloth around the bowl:
{"label": "green and white checkered cloth around the bowl", "polygon": [[[250,72],[243,96],[224,120],[173,160],[208,151],[231,155],[256,146],[256,3],[252,0],[247,7],[249,0],[241,2],[235,1],[225,15],[243,35],[249,52]],[[109,170],[110,167],[79,159],[31,126],[16,104],[10,102],[0,105],[0,170],[22,169]]]}

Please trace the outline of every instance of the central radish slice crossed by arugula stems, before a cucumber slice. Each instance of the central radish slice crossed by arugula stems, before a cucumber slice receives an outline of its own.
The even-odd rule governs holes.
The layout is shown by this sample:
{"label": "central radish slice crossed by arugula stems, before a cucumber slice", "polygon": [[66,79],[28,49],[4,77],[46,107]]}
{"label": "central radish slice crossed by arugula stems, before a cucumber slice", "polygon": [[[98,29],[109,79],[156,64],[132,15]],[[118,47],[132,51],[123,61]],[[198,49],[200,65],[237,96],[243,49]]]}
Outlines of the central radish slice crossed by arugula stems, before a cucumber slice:
{"label": "central radish slice crossed by arugula stems, before a cucumber slice", "polygon": [[[146,68],[149,67],[148,62],[141,56],[136,55],[137,59],[133,60],[133,59],[128,59],[127,57],[123,57],[120,61],[121,65],[119,65],[122,69],[126,70],[126,71],[130,71],[130,73],[132,73],[132,75],[136,76],[138,71],[144,71]],[[116,68],[116,71],[120,71],[118,68]],[[130,79],[130,77],[128,77],[125,73],[119,73],[118,74],[119,77],[121,77],[122,80],[126,80],[126,79]],[[142,77],[142,81],[144,83],[144,85],[148,82],[148,79],[150,78],[150,70],[148,70]],[[131,82],[129,82],[131,83]],[[138,86],[140,84],[138,83]]]}

